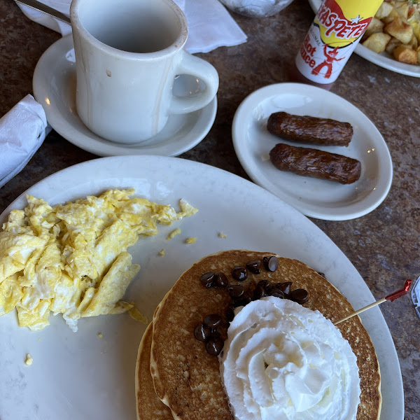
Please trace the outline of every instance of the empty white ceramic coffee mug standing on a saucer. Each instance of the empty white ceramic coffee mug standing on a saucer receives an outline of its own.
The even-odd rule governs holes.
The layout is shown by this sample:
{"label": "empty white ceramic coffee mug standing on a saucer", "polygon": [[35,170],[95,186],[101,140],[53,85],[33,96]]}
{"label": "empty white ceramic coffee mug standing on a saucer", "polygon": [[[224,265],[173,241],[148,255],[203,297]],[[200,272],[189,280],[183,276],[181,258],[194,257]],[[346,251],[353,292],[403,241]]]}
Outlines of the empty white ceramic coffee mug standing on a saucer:
{"label": "empty white ceramic coffee mug standing on a saucer", "polygon": [[[172,0],[73,0],[76,109],[95,134],[118,143],[151,139],[172,114],[202,109],[216,96],[214,66],[183,50],[186,18]],[[188,74],[206,87],[172,94]]]}

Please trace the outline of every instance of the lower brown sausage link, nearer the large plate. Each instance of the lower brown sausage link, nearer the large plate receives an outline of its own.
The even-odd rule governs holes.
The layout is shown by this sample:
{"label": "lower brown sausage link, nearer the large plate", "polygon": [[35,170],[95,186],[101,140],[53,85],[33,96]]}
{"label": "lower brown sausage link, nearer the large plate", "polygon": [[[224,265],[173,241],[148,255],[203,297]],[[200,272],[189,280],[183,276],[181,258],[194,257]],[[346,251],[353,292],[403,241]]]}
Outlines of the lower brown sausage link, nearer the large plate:
{"label": "lower brown sausage link, nearer the large plate", "polygon": [[273,165],[281,171],[328,179],[342,184],[360,178],[360,162],[356,159],[317,149],[279,143],[269,152]]}

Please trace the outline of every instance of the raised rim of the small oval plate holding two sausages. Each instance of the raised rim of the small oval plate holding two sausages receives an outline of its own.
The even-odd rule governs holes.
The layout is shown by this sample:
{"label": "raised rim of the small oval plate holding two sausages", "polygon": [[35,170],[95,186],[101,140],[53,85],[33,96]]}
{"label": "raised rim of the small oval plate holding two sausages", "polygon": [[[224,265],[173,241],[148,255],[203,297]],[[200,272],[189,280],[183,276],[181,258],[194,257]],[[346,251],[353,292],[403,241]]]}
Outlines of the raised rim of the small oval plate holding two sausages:
{"label": "raised rim of the small oval plate holding two sausages", "polygon": [[[326,97],[334,97],[336,100],[339,100],[343,103],[345,103],[347,106],[351,107],[352,110],[357,111],[363,117],[370,123],[372,129],[374,129],[374,134],[377,137],[380,137],[381,139],[381,145],[383,146],[382,152],[386,155],[386,162],[381,161],[381,165],[386,167],[386,174],[387,178],[386,180],[382,181],[382,190],[381,194],[376,198],[376,200],[372,203],[367,203],[368,205],[362,209],[353,209],[348,211],[340,211],[337,213],[334,213],[334,211],[325,211],[325,210],[315,210],[312,208],[307,208],[305,206],[304,202],[295,203],[295,202],[289,202],[290,205],[295,207],[297,210],[301,211],[303,214],[309,217],[318,218],[321,220],[328,220],[328,221],[346,221],[351,220],[353,218],[358,218],[361,216],[365,216],[366,214],[370,213],[379,205],[381,202],[383,202],[388,195],[389,190],[391,189],[392,184],[392,178],[393,178],[393,167],[392,167],[392,159],[391,159],[391,153],[389,153],[388,146],[386,145],[386,142],[384,140],[384,137],[382,137],[381,133],[377,129],[377,127],[372,123],[372,121],[367,118],[367,116],[360,111],[355,105],[351,104],[351,102],[347,101],[343,97],[340,97],[338,94],[335,94],[333,92],[328,92],[326,90],[321,89],[320,87],[311,86],[311,85],[305,85],[303,83],[274,83],[272,85],[266,85],[263,87],[260,87],[258,90],[255,90],[254,92],[251,92],[251,94],[248,94],[248,96],[239,104],[237,111],[235,112],[235,116],[233,118],[232,122],[232,141],[235,148],[235,153],[237,154],[237,158],[239,159],[239,162],[241,162],[241,166],[244,168],[245,172],[250,176],[250,178],[257,183],[262,188],[265,188],[269,190],[272,194],[279,197],[281,200],[284,200],[288,202],[288,195],[279,194],[276,190],[273,190],[272,188],[269,188],[264,182],[264,180],[261,180],[258,176],[256,176],[253,173],[253,169],[248,165],[248,160],[245,157],[245,154],[243,153],[243,148],[241,147],[241,141],[244,139],[244,123],[243,120],[246,119],[246,107],[250,106],[249,104],[253,104],[254,102],[260,103],[262,99],[267,99],[269,97],[274,97],[276,95],[281,94],[290,94],[293,93],[293,90],[295,92],[313,92],[311,95],[312,97],[316,94],[316,92],[321,93],[322,95],[325,95]],[[257,105],[253,106],[255,109]],[[245,117],[244,117],[245,115]],[[241,134],[239,134],[241,133]],[[255,165],[254,165],[255,166]],[[372,190],[373,193],[377,194],[378,190]],[[367,195],[363,200],[366,200],[370,195]],[[363,202],[362,200],[362,202]],[[337,207],[338,209],[345,209],[344,207]]]}

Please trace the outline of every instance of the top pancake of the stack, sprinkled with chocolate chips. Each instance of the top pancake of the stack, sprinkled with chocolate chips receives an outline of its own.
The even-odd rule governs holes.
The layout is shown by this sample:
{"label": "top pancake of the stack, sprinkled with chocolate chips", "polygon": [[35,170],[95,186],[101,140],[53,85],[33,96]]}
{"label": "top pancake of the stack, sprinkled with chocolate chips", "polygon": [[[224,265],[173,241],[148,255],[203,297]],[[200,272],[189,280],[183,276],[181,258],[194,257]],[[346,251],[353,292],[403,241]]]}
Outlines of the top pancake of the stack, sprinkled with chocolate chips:
{"label": "top pancake of the stack, sprinkled with chocolate chips", "polygon": [[[218,332],[221,339],[225,340],[229,316],[227,312],[232,297],[223,284],[208,287],[211,281],[214,285],[214,278],[209,281],[204,276],[200,281],[203,274],[223,272],[230,286],[241,284],[251,296],[256,284],[262,279],[272,284],[291,281],[291,290],[287,295],[300,289],[295,294],[304,302],[304,290],[307,290],[309,298],[303,303],[304,307],[318,309],[332,322],[353,311],[349,302],[331,283],[297,260],[275,255],[279,260],[278,267],[274,258],[271,267],[268,267],[268,261],[266,267],[261,264],[260,274],[254,274],[258,270],[248,264],[246,270],[236,268],[233,271],[241,281],[232,276],[234,267],[244,268],[248,262],[262,262],[264,257],[272,255],[234,250],[202,258],[181,275],[156,309],[153,316],[151,374],[155,393],[170,407],[174,419],[233,419],[221,381],[218,358],[211,356],[206,345],[194,335],[196,326],[203,322],[204,317],[220,314],[222,322]],[[358,316],[344,321],[338,328],[357,357],[361,389],[357,420],[377,419],[381,407],[380,374],[370,337]]]}

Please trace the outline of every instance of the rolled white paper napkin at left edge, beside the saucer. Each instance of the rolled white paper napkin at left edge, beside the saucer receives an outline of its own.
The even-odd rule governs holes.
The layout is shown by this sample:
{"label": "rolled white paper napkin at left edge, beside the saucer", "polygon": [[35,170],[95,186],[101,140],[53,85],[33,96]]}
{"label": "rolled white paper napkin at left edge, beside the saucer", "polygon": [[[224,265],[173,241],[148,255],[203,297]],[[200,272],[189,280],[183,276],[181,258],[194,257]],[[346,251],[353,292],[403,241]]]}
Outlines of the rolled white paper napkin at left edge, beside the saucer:
{"label": "rolled white paper napkin at left edge, beside the saucer", "polygon": [[43,107],[31,94],[0,119],[0,188],[22,171],[50,130]]}

